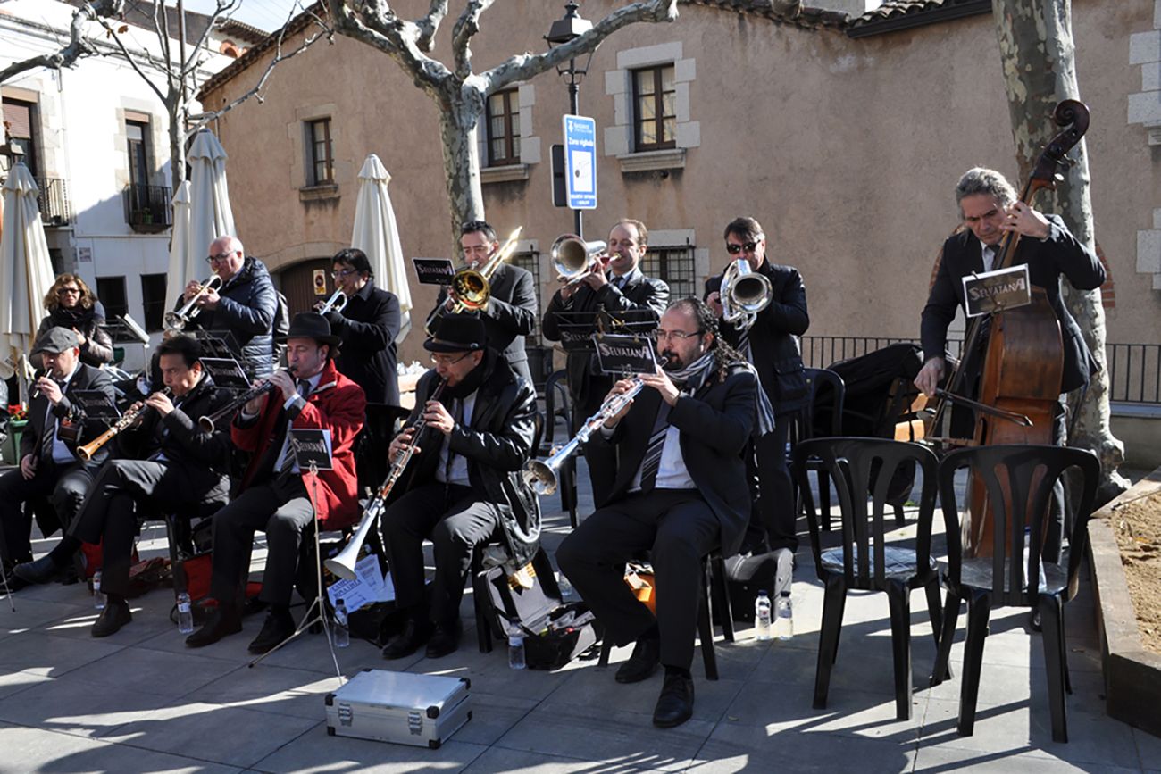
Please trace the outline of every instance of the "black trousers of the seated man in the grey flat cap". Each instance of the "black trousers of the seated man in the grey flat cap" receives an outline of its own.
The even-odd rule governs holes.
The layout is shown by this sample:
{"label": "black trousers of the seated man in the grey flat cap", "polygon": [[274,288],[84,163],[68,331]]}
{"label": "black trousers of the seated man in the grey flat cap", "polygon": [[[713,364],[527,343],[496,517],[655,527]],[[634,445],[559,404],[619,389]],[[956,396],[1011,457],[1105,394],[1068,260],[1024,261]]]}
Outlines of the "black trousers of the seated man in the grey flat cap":
{"label": "black trousers of the seated man in the grey flat cap", "polygon": [[42,461],[36,466],[36,475],[29,479],[24,478],[20,468],[0,475],[0,556],[3,560],[13,564],[33,558],[33,512],[24,507],[26,502],[49,498],[62,530],[67,530],[95,472],[96,465],[79,461],[59,464],[50,460]]}

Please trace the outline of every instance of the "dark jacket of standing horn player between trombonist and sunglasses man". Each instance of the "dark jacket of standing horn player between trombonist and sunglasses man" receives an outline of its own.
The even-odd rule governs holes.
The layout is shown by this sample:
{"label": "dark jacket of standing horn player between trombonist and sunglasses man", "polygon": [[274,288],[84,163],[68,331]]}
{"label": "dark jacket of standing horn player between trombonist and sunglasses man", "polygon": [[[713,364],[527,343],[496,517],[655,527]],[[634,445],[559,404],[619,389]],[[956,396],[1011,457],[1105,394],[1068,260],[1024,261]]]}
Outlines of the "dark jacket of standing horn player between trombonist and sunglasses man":
{"label": "dark jacket of standing horn player between trombonist and sunglasses man", "polygon": [[[612,274],[607,276],[612,280]],[[541,330],[545,332],[545,338],[549,341],[560,341],[562,337],[561,323],[570,321],[569,317],[562,320],[558,317],[560,312],[570,312],[577,317],[583,317],[583,314],[577,314],[578,312],[605,312],[611,317],[629,323],[651,323],[647,327],[652,330],[657,327],[657,321],[661,320],[661,314],[668,305],[669,285],[662,280],[647,277],[641,272],[635,272],[622,290],[618,290],[612,283],[604,285],[600,290],[593,290],[587,284],[582,284],[568,302],[561,297],[561,291],[557,290],[549,302],[548,309],[545,310]],[[569,333],[574,332],[571,327],[565,327],[565,330]],[[610,330],[607,321],[605,330]],[[592,334],[596,331],[597,326],[594,323],[592,328],[586,331],[586,333]],[[579,331],[576,332],[579,333]],[[572,396],[574,404],[578,406],[586,406],[592,402],[604,398],[613,385],[611,376],[593,374],[591,364],[591,353],[569,353],[565,367],[568,369],[569,392]],[[582,419],[584,417],[577,418],[577,421]]]}

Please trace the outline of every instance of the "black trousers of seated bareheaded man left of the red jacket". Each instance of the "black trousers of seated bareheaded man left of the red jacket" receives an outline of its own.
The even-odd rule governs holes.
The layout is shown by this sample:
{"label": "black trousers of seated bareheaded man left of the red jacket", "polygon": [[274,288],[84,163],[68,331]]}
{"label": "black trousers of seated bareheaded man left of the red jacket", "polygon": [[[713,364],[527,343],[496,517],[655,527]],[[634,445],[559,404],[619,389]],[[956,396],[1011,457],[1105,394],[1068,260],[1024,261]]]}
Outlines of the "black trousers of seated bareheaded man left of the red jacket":
{"label": "black trousers of seated bareheaded man left of the red jacket", "polygon": [[[216,498],[224,501],[225,492]],[[161,515],[200,504],[199,491],[185,465],[149,460],[110,460],[89,487],[70,534],[101,544],[101,587],[122,596],[129,591],[129,567],[139,514]]]}

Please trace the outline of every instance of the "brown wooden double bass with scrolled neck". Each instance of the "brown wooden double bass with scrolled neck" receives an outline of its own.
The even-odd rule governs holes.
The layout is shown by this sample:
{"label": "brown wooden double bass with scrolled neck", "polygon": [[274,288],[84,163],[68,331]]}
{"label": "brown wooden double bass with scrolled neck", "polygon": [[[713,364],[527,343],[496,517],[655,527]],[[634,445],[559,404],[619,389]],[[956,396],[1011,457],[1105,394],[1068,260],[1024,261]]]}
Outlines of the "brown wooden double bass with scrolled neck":
{"label": "brown wooden double bass with scrolled neck", "polygon": [[[1055,190],[1057,183],[1063,180],[1060,169],[1069,165],[1067,153],[1088,130],[1089,110],[1082,102],[1065,100],[1057,106],[1052,120],[1062,130],[1037,159],[1019,195],[1025,204],[1031,204],[1041,190]],[[1019,232],[1010,231],[1004,236],[994,269],[1015,265],[1019,241]],[[1027,305],[972,319],[964,341],[965,356],[952,371],[947,390],[937,392],[945,400],[936,412],[933,426],[938,426],[939,415],[950,402],[964,403],[976,410],[971,446],[1053,443],[1063,376],[1063,343],[1060,320],[1052,311],[1047,294],[1033,287],[1031,295]],[[964,362],[978,352],[983,353],[979,400],[972,402],[959,393],[966,381]],[[993,554],[995,529],[988,497],[982,478],[973,473],[968,482],[968,513],[961,525],[965,556]],[[1007,491],[1004,497],[1008,497]]]}

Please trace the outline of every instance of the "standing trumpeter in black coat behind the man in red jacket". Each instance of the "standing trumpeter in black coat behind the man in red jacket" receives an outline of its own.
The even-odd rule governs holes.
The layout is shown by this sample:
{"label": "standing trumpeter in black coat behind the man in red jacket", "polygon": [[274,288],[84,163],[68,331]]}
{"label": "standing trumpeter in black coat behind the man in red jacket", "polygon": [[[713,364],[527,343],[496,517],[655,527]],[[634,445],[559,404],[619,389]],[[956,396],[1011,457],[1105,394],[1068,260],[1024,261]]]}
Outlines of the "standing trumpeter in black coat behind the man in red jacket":
{"label": "standing trumpeter in black coat behind the man in red jacket", "polygon": [[340,311],[324,317],[331,333],[342,339],[334,366],[363,389],[367,403],[399,405],[396,339],[399,335],[399,299],[375,287],[367,254],[348,247],[331,259],[331,276],[346,297]]}

